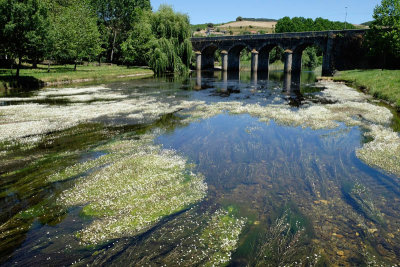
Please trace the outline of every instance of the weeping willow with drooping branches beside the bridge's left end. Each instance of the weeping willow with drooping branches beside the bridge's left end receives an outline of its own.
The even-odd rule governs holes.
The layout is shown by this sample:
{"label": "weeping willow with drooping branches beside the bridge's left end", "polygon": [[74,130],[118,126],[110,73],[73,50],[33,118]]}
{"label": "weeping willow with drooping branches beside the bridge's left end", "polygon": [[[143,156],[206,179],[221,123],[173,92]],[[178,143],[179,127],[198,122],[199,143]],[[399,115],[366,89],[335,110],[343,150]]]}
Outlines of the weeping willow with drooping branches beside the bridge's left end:
{"label": "weeping willow with drooping branches beside the bridge's left end", "polygon": [[147,61],[157,75],[186,71],[192,59],[188,16],[162,5],[147,17],[150,19],[143,19],[138,24],[140,27],[123,43],[125,60],[130,63]]}

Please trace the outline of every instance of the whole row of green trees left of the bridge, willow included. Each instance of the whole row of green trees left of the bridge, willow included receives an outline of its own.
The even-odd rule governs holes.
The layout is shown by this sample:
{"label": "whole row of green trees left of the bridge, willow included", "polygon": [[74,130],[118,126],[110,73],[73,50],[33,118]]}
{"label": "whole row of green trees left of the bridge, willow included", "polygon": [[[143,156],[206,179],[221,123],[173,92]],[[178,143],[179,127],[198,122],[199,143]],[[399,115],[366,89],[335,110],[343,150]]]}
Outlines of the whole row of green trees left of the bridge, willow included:
{"label": "whole row of green trees left of the bridge, willow included", "polygon": [[0,0],[0,61],[99,61],[149,65],[156,73],[188,69],[187,15],[150,0]]}

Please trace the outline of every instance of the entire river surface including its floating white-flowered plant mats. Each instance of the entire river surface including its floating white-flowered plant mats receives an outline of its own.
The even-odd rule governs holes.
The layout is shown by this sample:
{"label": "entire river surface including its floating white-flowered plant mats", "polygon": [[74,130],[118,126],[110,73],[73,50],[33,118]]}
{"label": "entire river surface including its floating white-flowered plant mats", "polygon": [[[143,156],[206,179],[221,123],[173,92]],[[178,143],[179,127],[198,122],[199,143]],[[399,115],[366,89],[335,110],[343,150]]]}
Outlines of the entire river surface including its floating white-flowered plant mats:
{"label": "entire river surface including its floating white-flowered plant mats", "polygon": [[392,114],[315,77],[203,72],[0,98],[0,262],[397,266]]}

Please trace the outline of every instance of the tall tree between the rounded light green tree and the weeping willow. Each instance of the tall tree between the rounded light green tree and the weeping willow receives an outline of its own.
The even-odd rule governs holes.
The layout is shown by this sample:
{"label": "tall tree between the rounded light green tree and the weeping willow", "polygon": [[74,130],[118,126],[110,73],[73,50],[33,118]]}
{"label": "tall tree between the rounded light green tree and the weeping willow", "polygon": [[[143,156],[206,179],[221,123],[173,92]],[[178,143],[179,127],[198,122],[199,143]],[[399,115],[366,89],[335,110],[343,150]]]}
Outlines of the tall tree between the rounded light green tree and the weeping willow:
{"label": "tall tree between the rounded light green tree and the weeping willow", "polygon": [[151,11],[150,0],[91,0],[98,14],[102,35],[107,36],[110,62],[138,22],[143,10]]}

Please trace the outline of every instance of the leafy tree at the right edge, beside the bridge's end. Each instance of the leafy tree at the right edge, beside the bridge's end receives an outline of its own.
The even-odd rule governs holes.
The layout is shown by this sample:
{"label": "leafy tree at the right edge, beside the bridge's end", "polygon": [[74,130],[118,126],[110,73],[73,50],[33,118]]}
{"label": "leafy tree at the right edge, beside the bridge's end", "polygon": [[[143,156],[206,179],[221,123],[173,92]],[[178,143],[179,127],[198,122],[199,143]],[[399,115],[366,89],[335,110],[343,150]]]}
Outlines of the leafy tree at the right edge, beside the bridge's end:
{"label": "leafy tree at the right edge, beside the bridge's end", "polygon": [[400,59],[400,0],[382,0],[382,3],[375,7],[373,17],[371,30],[367,34],[371,55],[382,58],[383,67],[391,65],[398,67]]}

